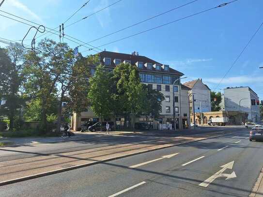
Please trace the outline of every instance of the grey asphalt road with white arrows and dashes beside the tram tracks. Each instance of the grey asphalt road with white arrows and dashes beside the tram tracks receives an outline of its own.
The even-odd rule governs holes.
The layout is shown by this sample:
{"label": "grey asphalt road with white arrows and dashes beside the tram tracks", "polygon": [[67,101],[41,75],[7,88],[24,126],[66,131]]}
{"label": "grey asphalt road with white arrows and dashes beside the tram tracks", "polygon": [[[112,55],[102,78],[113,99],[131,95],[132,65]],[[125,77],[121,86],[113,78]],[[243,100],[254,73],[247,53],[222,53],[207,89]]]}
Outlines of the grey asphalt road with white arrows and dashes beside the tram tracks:
{"label": "grey asphalt road with white arrows and dashes beside the tram tracks", "polygon": [[[250,142],[245,129],[232,129],[227,134],[3,185],[0,196],[247,197],[263,167],[263,142]],[[146,138],[141,136],[141,140]],[[115,138],[111,140],[116,141]],[[74,143],[68,144],[64,146],[69,149],[79,146],[77,143],[74,148]],[[91,146],[97,145],[101,143]],[[50,148],[46,152],[55,150]],[[6,160],[15,158],[12,154],[5,156]]]}

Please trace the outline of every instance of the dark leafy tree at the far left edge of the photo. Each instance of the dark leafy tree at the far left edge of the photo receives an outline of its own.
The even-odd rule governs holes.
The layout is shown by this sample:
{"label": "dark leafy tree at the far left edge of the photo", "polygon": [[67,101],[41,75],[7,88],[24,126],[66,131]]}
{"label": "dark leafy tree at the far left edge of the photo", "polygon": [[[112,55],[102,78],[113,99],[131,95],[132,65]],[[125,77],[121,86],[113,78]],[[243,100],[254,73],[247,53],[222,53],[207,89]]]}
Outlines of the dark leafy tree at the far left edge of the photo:
{"label": "dark leafy tree at the far left edge of the photo", "polygon": [[5,105],[0,106],[0,113],[8,117],[10,131],[14,129],[15,117],[23,104],[20,92],[24,79],[23,55],[24,50],[13,45],[7,49],[0,48],[0,98],[6,101]]}

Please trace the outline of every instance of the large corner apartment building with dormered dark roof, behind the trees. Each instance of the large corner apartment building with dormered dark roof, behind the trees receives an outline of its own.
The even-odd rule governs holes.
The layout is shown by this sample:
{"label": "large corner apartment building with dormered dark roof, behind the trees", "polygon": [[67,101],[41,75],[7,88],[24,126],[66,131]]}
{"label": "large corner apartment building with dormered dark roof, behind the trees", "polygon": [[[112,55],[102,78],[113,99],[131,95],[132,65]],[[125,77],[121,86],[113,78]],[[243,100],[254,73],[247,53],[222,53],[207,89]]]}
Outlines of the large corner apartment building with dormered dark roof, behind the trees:
{"label": "large corner apartment building with dormered dark roof, behind the trees", "polygon": [[[148,85],[149,88],[156,89],[160,91],[165,100],[162,102],[162,110],[160,111],[160,116],[152,120],[151,117],[140,117],[136,121],[152,121],[154,128],[157,129],[158,123],[166,124],[173,123],[173,102],[175,111],[175,121],[176,128],[184,128],[190,125],[189,120],[189,103],[188,98],[188,88],[181,87],[180,76],[184,74],[170,68],[169,65],[164,65],[157,61],[154,61],[145,56],[139,56],[138,52],[133,52],[132,54],[116,53],[109,51],[102,51],[99,54],[101,64],[105,66],[105,69],[112,70],[121,62],[130,63],[136,65],[139,69],[139,77],[141,83]],[[91,74],[95,72],[95,65],[89,65],[91,69]],[[179,79],[179,80],[177,80]],[[173,87],[173,82],[175,85]],[[174,97],[173,92],[174,91]],[[182,108],[182,106],[184,106]],[[74,130],[80,127],[83,121],[87,121],[95,117],[91,110],[86,112],[81,112],[81,116],[77,114],[73,115],[72,127]],[[123,118],[111,121],[124,121]]]}

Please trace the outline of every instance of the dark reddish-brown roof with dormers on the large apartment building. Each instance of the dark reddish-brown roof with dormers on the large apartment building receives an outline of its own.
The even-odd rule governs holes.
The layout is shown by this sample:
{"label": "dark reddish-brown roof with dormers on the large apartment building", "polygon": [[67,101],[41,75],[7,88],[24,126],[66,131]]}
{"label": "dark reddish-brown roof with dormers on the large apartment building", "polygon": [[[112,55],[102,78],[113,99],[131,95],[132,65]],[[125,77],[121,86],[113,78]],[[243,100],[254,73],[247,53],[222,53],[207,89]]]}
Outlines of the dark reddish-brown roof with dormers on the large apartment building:
{"label": "dark reddish-brown roof with dormers on the large apartment building", "polygon": [[[98,53],[99,57],[100,57],[100,61],[101,64],[104,65],[104,58],[110,58],[111,59],[111,67],[115,67],[115,63],[114,63],[114,59],[120,59],[122,62],[124,60],[127,61],[131,61],[132,65],[136,65],[136,62],[143,62],[143,63],[152,63],[154,64],[160,64],[161,63],[154,61],[150,58],[147,58],[145,56],[139,56],[139,55],[131,55],[131,54],[125,54],[125,53],[116,53],[116,52],[111,52],[111,51],[102,51],[100,53]],[[146,67],[144,66],[143,69],[141,70],[145,70],[145,71],[149,71],[146,69]],[[169,73],[169,74],[175,74],[175,75],[179,75],[179,76],[183,76],[184,74],[174,70],[172,68],[169,67],[169,71],[165,71],[163,68],[161,68],[161,70],[155,70],[155,68],[153,67],[153,69],[151,71],[156,71],[156,72],[162,72],[162,73]]]}

